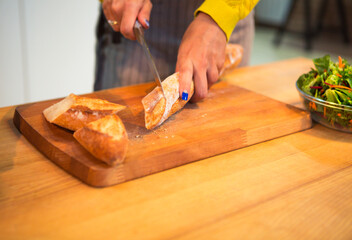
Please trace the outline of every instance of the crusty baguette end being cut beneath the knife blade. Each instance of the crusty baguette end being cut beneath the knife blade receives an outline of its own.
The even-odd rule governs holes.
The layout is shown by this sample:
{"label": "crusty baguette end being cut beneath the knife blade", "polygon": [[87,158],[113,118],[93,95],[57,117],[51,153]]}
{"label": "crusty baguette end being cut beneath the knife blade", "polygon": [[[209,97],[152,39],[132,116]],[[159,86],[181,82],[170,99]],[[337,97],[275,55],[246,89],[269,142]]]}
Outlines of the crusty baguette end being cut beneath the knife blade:
{"label": "crusty baguette end being cut beneath the knife blade", "polygon": [[[174,73],[162,82],[165,98],[163,97],[161,88],[156,87],[142,99],[145,112],[145,127],[147,129],[159,126],[188,102],[179,98],[178,79],[179,74]],[[193,92],[194,85],[192,82],[188,99],[192,97]]]}

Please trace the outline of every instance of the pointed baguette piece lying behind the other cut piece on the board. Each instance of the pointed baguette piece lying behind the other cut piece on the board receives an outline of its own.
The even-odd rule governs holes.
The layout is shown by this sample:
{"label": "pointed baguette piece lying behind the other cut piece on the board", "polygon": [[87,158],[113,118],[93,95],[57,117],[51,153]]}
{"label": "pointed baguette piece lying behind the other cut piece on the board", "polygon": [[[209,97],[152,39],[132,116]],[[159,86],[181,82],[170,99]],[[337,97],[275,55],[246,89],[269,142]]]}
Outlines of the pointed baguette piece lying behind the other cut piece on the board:
{"label": "pointed baguette piece lying behind the other cut piece on the board", "polygon": [[76,131],[87,123],[115,114],[125,106],[102,99],[70,94],[60,102],[48,107],[43,114],[50,123]]}

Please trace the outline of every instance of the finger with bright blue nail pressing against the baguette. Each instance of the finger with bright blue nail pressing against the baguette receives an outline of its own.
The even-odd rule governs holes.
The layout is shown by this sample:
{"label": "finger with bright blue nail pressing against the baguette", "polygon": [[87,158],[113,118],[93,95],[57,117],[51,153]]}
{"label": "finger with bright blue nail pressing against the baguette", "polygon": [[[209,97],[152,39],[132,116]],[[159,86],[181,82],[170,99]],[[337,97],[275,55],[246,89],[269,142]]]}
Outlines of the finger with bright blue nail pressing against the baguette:
{"label": "finger with bright blue nail pressing against the baguette", "polygon": [[191,61],[176,65],[176,72],[179,72],[179,94],[182,100],[187,101],[192,97],[191,84],[193,81],[193,64]]}

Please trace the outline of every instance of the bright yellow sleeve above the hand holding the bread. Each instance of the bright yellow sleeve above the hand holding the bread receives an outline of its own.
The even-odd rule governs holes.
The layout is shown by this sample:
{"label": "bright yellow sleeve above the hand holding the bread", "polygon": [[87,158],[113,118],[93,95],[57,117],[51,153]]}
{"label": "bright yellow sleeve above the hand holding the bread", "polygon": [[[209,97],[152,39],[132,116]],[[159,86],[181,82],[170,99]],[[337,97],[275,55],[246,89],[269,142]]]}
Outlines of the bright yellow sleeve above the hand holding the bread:
{"label": "bright yellow sleeve above the hand holding the bread", "polygon": [[194,12],[208,14],[225,32],[227,40],[239,20],[245,18],[259,0],[205,0]]}

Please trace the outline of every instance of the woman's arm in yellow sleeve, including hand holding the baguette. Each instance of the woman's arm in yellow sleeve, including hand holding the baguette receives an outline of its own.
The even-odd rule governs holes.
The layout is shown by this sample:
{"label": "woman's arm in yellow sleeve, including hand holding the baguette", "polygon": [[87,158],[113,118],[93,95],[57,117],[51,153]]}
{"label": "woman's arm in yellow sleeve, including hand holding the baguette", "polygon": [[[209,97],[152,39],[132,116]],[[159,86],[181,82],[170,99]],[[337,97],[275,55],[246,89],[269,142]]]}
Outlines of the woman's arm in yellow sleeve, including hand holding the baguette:
{"label": "woman's arm in yellow sleeve, including hand holding the baguette", "polygon": [[237,22],[245,18],[259,0],[205,0],[195,11],[177,57],[180,73],[180,96],[189,92],[192,79],[195,92],[192,101],[205,98],[208,89],[219,78],[225,60],[225,47]]}

